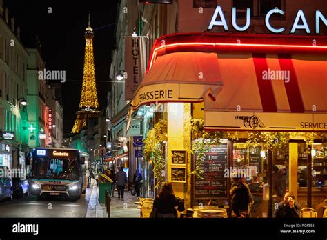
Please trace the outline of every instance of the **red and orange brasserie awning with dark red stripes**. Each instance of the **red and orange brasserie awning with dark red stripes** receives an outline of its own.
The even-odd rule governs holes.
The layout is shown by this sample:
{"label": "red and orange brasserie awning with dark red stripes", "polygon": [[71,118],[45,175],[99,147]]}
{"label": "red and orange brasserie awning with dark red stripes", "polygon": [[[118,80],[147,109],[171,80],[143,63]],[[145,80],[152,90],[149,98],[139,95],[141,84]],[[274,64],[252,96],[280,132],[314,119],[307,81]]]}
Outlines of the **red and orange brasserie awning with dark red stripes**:
{"label": "red and orange brasserie awning with dark red stripes", "polygon": [[174,34],[158,43],[130,112],[203,101],[207,130],[327,130],[326,37],[319,46],[303,36],[222,34]]}

